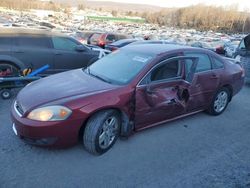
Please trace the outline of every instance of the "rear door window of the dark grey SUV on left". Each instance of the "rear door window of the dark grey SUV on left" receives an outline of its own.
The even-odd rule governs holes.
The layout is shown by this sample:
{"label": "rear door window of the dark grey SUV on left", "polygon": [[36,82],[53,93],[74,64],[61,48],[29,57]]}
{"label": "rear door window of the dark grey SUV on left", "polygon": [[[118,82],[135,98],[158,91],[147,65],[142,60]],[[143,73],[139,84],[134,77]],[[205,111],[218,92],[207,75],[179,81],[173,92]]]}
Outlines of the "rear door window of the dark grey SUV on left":
{"label": "rear door window of the dark grey SUV on left", "polygon": [[18,46],[32,48],[50,48],[50,41],[47,37],[39,36],[20,36],[16,38]]}

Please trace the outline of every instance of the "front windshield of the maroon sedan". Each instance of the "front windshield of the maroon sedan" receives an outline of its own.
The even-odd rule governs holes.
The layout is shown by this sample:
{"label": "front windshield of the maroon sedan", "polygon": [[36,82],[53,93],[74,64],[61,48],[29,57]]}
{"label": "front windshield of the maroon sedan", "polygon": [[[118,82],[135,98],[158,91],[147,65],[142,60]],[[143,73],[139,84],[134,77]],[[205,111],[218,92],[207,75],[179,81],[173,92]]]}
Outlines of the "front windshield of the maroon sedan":
{"label": "front windshield of the maroon sedan", "polygon": [[153,59],[152,54],[121,50],[99,59],[87,68],[87,73],[114,83],[129,83]]}

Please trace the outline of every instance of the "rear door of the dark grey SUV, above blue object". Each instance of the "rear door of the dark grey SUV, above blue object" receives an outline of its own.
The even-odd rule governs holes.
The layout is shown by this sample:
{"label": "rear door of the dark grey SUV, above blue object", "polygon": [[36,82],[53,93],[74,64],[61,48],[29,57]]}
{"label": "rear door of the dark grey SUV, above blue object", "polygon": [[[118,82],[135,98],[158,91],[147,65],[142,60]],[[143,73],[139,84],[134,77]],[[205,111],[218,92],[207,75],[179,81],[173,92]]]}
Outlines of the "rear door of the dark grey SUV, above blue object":
{"label": "rear door of the dark grey SUV, above blue object", "polygon": [[23,62],[28,68],[36,70],[48,64],[49,69],[40,75],[53,73],[53,52],[47,36],[18,36],[15,37],[12,55]]}

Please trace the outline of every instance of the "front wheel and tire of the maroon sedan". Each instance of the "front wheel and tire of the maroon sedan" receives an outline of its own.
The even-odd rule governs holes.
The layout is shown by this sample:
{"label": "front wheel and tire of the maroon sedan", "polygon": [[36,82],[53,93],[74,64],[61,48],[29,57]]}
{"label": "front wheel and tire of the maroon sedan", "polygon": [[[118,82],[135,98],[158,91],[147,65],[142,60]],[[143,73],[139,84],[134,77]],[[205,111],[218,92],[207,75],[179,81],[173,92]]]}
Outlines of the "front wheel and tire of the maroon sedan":
{"label": "front wheel and tire of the maroon sedan", "polygon": [[121,119],[115,110],[105,110],[94,114],[88,120],[83,134],[85,149],[94,155],[107,152],[119,137]]}

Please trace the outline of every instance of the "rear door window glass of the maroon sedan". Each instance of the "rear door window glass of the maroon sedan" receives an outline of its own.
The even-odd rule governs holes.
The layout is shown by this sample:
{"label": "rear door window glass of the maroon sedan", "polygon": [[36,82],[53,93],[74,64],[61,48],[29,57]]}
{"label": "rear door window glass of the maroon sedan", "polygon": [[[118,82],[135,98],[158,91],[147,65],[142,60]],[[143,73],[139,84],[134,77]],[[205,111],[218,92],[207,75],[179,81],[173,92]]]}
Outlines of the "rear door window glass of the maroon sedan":
{"label": "rear door window glass of the maroon sedan", "polygon": [[[208,71],[212,69],[211,66],[211,61],[208,57],[208,55],[206,54],[202,54],[202,53],[186,53],[185,56],[187,57],[198,57],[199,61],[196,67],[196,71],[195,72],[203,72],[203,71]],[[186,66],[188,66],[186,64]],[[189,67],[186,67],[186,69],[188,69]]]}

